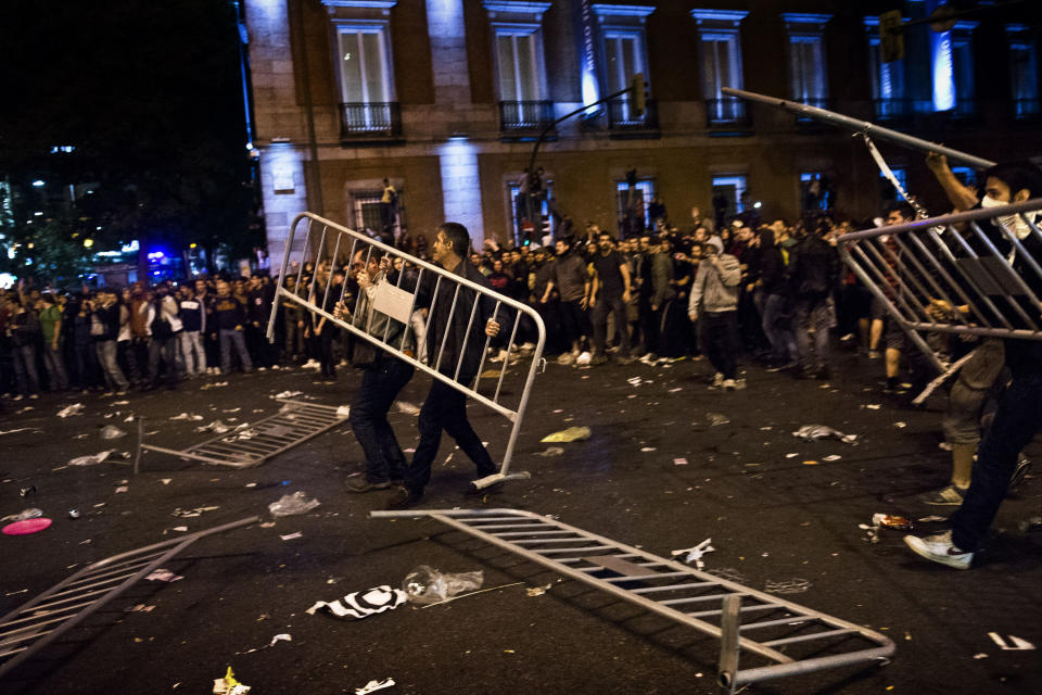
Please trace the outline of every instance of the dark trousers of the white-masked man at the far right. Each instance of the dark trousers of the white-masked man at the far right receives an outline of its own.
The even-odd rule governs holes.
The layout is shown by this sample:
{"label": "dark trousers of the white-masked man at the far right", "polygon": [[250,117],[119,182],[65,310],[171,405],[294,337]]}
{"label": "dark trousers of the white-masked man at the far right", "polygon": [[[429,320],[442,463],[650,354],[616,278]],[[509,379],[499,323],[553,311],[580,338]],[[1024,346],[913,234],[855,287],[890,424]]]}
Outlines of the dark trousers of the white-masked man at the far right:
{"label": "dark trousers of the white-masked man at the far right", "polygon": [[969,490],[952,515],[952,543],[976,551],[1006,496],[1020,452],[1042,429],[1042,368],[1014,369],[991,429],[977,450]]}

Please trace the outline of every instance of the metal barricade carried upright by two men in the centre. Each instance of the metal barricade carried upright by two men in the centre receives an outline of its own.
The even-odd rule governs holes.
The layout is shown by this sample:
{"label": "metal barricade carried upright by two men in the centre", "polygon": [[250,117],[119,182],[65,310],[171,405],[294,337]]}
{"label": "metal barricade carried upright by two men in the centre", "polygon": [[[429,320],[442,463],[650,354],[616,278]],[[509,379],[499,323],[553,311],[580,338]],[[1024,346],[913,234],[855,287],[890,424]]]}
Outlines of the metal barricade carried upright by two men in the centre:
{"label": "metal barricade carried upright by two men in the centre", "polygon": [[[300,252],[295,253],[293,251],[294,241],[302,235],[304,237],[304,243]],[[365,330],[361,330],[357,326],[354,326],[350,321],[335,318],[331,312],[326,309],[326,307],[330,305],[330,291],[332,289],[332,283],[327,282],[325,287],[319,286],[318,279],[320,274],[317,270],[323,267],[328,268],[330,266],[339,266],[342,260],[345,258],[350,262],[354,262],[354,260],[359,256],[363,258],[364,266],[367,266],[370,255],[376,250],[379,250],[384,255],[391,256],[395,261],[401,258],[403,267],[401,271],[397,273],[397,279],[393,285],[384,279],[381,279],[378,283],[377,299],[373,302],[374,311],[385,314],[386,316],[405,324],[407,327],[418,326],[420,328],[420,330],[417,331],[418,333],[422,332],[425,334],[427,330],[430,328],[433,311],[429,313],[425,320],[420,318],[418,312],[420,307],[417,305],[418,293],[408,291],[405,288],[414,287],[418,289],[422,286],[424,280],[429,281],[431,278],[433,278],[434,290],[431,293],[432,302],[437,301],[440,295],[439,290],[444,283],[448,283],[450,288],[455,288],[452,295],[453,300],[449,309],[449,320],[446,321],[446,330],[444,334],[436,337],[436,340],[434,341],[435,349],[433,354],[427,355],[425,361],[420,358],[421,355],[419,352],[414,355],[408,354],[403,350],[406,344],[405,333],[407,331],[403,331],[401,339],[387,340],[390,321],[387,321],[387,330],[384,331],[382,337],[372,336]],[[291,263],[291,260],[293,263]],[[463,263],[467,262],[468,260],[465,258]],[[313,277],[307,286],[304,287],[302,283],[302,279],[304,277],[304,266],[308,263],[313,264],[313,267],[316,271],[313,274]],[[285,287],[285,278],[288,274],[291,273],[296,277],[297,292],[295,293],[291,292]],[[403,282],[406,276],[414,273],[415,275],[412,275],[409,282],[404,286]],[[344,287],[340,290],[340,299],[344,298],[346,288],[347,282],[344,282]],[[460,296],[459,292],[461,288],[468,288],[478,294],[478,299],[475,299],[473,305],[462,306],[462,302],[457,302]],[[488,346],[492,343],[492,338],[485,337],[476,377],[474,377],[472,382],[468,379],[468,381],[465,383],[460,379],[460,370],[465,356],[468,352],[467,346],[471,340],[470,337],[472,332],[475,332],[476,330],[476,327],[474,327],[473,323],[476,315],[478,304],[481,301],[480,298],[484,296],[487,296],[495,302],[493,316],[497,318],[500,325],[506,326],[509,330],[510,334],[505,349],[507,354],[503,359],[501,368],[498,371],[495,369],[485,370],[486,366],[491,366],[486,365],[486,357],[488,354]],[[335,300],[336,298],[333,299]],[[347,229],[346,227],[319,217],[313,213],[301,213],[290,225],[290,233],[285,240],[285,251],[282,256],[282,265],[279,268],[275,305],[272,306],[271,318],[268,323],[268,340],[275,339],[276,315],[278,314],[278,308],[283,301],[290,301],[300,304],[307,312],[310,312],[313,316],[325,317],[327,320],[332,321],[340,328],[343,328],[352,333],[356,339],[366,340],[372,343],[377,348],[394,355],[398,359],[407,362],[417,369],[429,374],[434,379],[439,379],[440,381],[448,384],[457,391],[462,392],[474,401],[485,405],[488,408],[492,408],[499,415],[503,415],[510,420],[513,424],[513,427],[510,431],[510,439],[507,443],[507,450],[504,454],[499,472],[473,481],[475,488],[482,489],[503,480],[530,477],[528,472],[519,471],[511,473],[509,472],[509,469],[510,462],[517,446],[518,434],[521,430],[521,421],[524,417],[525,407],[528,406],[529,402],[529,395],[532,391],[532,384],[535,380],[536,371],[542,363],[543,345],[546,342],[546,327],[543,324],[543,319],[532,307],[486,287],[482,287],[475,282],[472,282],[465,277],[449,273],[444,268],[409,255],[403,251],[399,251],[398,249],[381,243],[380,241],[377,241],[365,233]],[[430,308],[433,309],[434,307],[431,306]],[[440,369],[443,366],[446,366],[443,365],[442,357],[444,356],[444,348],[446,339],[448,338],[448,331],[452,330],[453,319],[457,317],[462,317],[463,320],[467,320],[467,337],[463,341],[463,344],[460,346],[459,358],[455,365],[455,368],[449,369],[453,376],[448,376],[446,374],[442,374]],[[531,352],[524,351],[524,353],[514,348],[514,339],[518,337],[518,327],[522,321],[522,317],[526,317],[532,321],[538,336],[534,350]],[[417,341],[420,342],[422,340],[423,336],[418,334]],[[511,391],[510,389],[504,389],[506,377],[510,372],[508,367],[518,363],[521,364],[520,371],[525,375],[523,388],[521,389],[520,393]],[[483,378],[495,380],[495,389],[491,394],[485,394],[479,391],[479,387]]]}

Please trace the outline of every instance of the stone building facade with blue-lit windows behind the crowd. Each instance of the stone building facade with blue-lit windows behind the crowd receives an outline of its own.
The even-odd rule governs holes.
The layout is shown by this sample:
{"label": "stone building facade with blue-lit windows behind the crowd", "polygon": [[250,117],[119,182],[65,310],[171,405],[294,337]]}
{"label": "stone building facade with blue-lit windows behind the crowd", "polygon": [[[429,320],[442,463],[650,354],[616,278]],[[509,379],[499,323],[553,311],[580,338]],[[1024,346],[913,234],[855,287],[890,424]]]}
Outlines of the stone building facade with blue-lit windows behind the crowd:
{"label": "stone building facade with blue-lit windows behind the crowd", "polygon": [[[905,21],[933,4],[905,2]],[[942,35],[920,24],[905,31],[903,60],[882,63],[878,14],[890,5],[246,0],[271,257],[281,257],[305,210],[353,228],[378,225],[384,178],[398,192],[399,226],[414,236],[430,239],[454,219],[475,242],[513,238],[537,135],[638,72],[648,85],[644,115],[623,97],[550,129],[536,160],[547,210],[618,230],[631,188],[644,203],[658,197],[681,227],[692,205],[712,214],[714,200],[727,214],[759,202],[766,217],[793,218],[835,204],[864,218],[892,195],[850,134],[726,98],[726,86],[993,160],[1042,141],[1037,22],[1000,10]],[[944,212],[922,155],[881,149],[910,189]],[[814,179],[830,201],[809,202]]]}

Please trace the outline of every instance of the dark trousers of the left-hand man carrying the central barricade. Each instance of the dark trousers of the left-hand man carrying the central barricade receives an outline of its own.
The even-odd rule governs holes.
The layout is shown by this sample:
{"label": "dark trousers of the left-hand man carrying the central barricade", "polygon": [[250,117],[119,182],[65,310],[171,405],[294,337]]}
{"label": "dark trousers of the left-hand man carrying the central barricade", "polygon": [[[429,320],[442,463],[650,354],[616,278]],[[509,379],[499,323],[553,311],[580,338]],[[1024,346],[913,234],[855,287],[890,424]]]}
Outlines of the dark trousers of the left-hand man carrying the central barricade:
{"label": "dark trousers of the left-hand man carrying the central barricade", "polygon": [[387,410],[414,371],[412,365],[383,356],[361,375],[361,388],[351,404],[348,421],[366,454],[368,482],[402,480],[405,475],[405,454],[387,422]]}

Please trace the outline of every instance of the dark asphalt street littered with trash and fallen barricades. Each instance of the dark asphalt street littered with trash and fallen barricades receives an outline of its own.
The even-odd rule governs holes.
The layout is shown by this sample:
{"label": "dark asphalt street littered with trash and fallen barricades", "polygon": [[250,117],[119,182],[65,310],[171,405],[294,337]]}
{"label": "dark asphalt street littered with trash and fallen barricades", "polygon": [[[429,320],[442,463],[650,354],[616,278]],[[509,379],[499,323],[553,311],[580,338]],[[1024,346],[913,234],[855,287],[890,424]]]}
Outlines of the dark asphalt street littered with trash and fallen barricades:
{"label": "dark asphalt street littered with trash and fallen barricades", "polygon": [[[872,542],[860,525],[875,513],[919,519],[949,511],[916,501],[946,482],[949,454],[938,448],[943,400],[925,410],[904,407],[880,392],[881,369],[844,354],[839,376],[825,384],[750,366],[747,390],[720,393],[707,389],[703,362],[550,364],[536,381],[513,465],[531,480],[465,500],[473,467],[445,439],[422,506],[556,515],[666,557],[711,538],[707,570],[761,591],[795,587],[789,601],[897,644],[889,664],[790,677],[749,693],[1040,693],[1039,650],[1004,650],[989,636],[1042,647],[1042,533],[1018,526],[1042,514],[1038,479],[1029,477],[1007,500],[971,571],[919,559],[900,531],[882,529]],[[7,402],[0,516],[39,507],[53,525],[0,536],[0,612],[84,564],[182,533],[175,527],[193,532],[250,515],[269,521],[267,505],[295,491],[321,505],[201,540],[166,566],[182,580],[140,582],[0,681],[0,692],[209,693],[228,666],[257,695],[353,693],[386,678],[396,685],[380,692],[423,695],[716,692],[713,639],[663,629],[640,609],[434,521],[368,518],[391,493],[342,489],[361,462],[346,426],[257,468],[148,453],[138,476],[119,457],[132,451],[134,438],[100,438],[107,425],[132,432],[124,420],[135,415],[147,418],[150,442],[183,447],[205,437],[194,431],[201,425],[276,412],[270,396],[285,390],[350,404],[358,377],[344,369],[336,386],[314,379],[294,369],[185,381],[173,393]],[[421,403],[428,384],[417,376],[401,401]],[[84,404],[81,415],[56,417],[73,403]],[[507,420],[476,404],[469,412],[493,456],[501,455]],[[181,413],[203,420],[169,419]],[[859,443],[792,437],[809,424],[859,434]],[[415,415],[395,408],[392,425],[404,447],[416,445]],[[590,439],[539,455],[550,446],[543,437],[571,426],[589,427]],[[67,465],[113,447],[113,462]],[[1033,448],[1028,453],[1039,454]],[[831,456],[840,458],[826,460]],[[36,492],[20,496],[30,485]],[[173,515],[198,507],[216,508]],[[69,518],[69,509],[80,517]],[[917,531],[936,528],[917,523]],[[481,569],[484,586],[499,589],[358,621],[305,612],[316,601],[398,585],[418,565]],[[547,584],[542,595],[526,592]],[[139,604],[154,609],[130,610]],[[292,640],[271,645],[283,633]]]}

